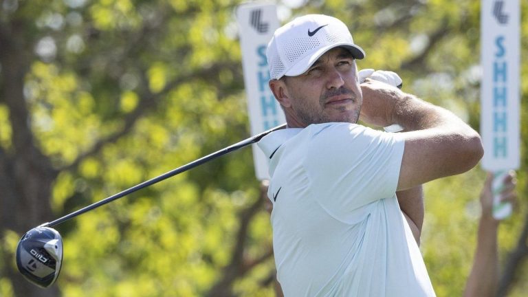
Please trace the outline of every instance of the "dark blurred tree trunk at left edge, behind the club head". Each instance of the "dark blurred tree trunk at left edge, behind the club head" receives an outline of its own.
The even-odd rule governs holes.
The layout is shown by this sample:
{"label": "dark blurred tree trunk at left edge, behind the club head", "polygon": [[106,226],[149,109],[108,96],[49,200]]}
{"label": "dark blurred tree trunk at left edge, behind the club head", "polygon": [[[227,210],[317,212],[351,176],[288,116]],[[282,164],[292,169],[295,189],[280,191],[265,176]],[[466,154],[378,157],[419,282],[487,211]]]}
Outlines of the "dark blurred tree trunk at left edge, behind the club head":
{"label": "dark blurred tree trunk at left edge, behind the club head", "polygon": [[[52,219],[51,189],[56,170],[35,145],[28,107],[23,96],[24,78],[30,52],[24,39],[23,22],[0,28],[1,98],[9,110],[11,147],[0,148],[0,235],[7,230],[22,236],[40,223]],[[5,245],[1,245],[5,247]],[[58,287],[41,289],[30,285],[17,272],[14,251],[2,248],[5,265],[0,273],[12,282],[15,296],[60,296]]]}

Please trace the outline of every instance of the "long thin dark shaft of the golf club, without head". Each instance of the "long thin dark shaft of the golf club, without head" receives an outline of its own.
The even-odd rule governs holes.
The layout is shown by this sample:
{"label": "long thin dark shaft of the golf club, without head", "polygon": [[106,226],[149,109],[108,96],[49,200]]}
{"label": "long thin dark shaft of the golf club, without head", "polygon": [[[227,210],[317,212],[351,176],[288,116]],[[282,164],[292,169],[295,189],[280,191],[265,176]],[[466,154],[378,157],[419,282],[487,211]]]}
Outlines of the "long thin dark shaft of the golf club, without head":
{"label": "long thin dark shaft of the golf club, without head", "polygon": [[254,144],[256,142],[259,142],[259,140],[261,140],[262,137],[264,137],[265,135],[273,132],[273,131],[276,131],[278,129],[283,129],[286,127],[286,124],[282,124],[280,126],[276,126],[275,128],[273,129],[270,129],[270,130],[267,130],[267,131],[264,131],[262,133],[259,133],[257,135],[254,135],[246,140],[242,140],[241,142],[237,142],[236,144],[232,144],[226,148],[222,148],[221,150],[219,151],[216,151],[214,153],[211,153],[209,155],[206,155],[205,157],[201,157],[199,159],[196,159],[195,161],[192,161],[188,164],[185,164],[184,166],[180,166],[178,168],[175,168],[173,170],[170,170],[168,171],[167,173],[164,173],[162,175],[159,175],[157,177],[154,177],[153,179],[148,179],[148,181],[143,181],[141,184],[137,184],[131,188],[128,188],[126,190],[123,190],[122,192],[118,192],[117,194],[115,195],[112,195],[110,197],[107,197],[105,199],[102,199],[96,203],[93,203],[93,204],[90,204],[89,206],[86,206],[85,208],[81,208],[80,210],[76,210],[75,212],[72,212],[70,214],[66,214],[64,217],[60,217],[54,221],[51,221],[49,223],[43,223],[41,226],[43,227],[52,227],[54,225],[58,225],[60,223],[63,223],[69,219],[72,219],[74,217],[77,217],[79,214],[83,214],[85,212],[88,212],[90,210],[93,210],[94,208],[98,208],[99,206],[103,206],[104,204],[107,204],[111,201],[114,201],[116,199],[120,199],[121,197],[124,197],[126,195],[129,195],[130,193],[132,192],[135,192],[137,190],[140,190],[142,188],[145,188],[145,187],[148,187],[148,186],[151,186],[153,184],[156,184],[158,183],[159,181],[163,181],[165,179],[168,179],[169,177],[173,177],[179,173],[183,173],[191,168],[195,168],[196,166],[199,166],[203,163],[206,163],[206,162],[209,162],[211,159],[214,159],[214,158],[217,158],[217,157],[220,157],[222,155],[225,155],[225,154],[228,154],[228,153],[231,153],[232,151],[236,151],[238,150],[239,148],[243,148],[245,146],[248,146],[250,144]]}

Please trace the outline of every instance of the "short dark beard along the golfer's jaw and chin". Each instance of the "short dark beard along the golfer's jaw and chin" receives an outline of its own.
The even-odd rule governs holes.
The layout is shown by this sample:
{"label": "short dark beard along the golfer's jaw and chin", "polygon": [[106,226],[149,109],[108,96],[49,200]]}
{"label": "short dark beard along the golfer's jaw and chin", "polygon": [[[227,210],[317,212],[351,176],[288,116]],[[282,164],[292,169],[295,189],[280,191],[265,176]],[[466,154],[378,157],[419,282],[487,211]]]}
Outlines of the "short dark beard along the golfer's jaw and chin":
{"label": "short dark beard along the golfer's jaw and chin", "polygon": [[325,122],[349,122],[355,124],[360,118],[361,104],[355,104],[352,110],[340,106],[333,109],[333,114],[326,112],[328,110],[325,109],[325,104],[327,103],[328,98],[344,94],[350,95],[354,102],[358,102],[358,96],[356,96],[353,91],[345,87],[340,87],[339,89],[331,89],[325,92],[325,94],[322,94],[319,98],[318,105],[306,104],[306,102],[309,102],[306,98],[299,98],[299,100],[295,100],[296,104],[293,104],[294,109],[300,120],[306,125],[321,124]]}

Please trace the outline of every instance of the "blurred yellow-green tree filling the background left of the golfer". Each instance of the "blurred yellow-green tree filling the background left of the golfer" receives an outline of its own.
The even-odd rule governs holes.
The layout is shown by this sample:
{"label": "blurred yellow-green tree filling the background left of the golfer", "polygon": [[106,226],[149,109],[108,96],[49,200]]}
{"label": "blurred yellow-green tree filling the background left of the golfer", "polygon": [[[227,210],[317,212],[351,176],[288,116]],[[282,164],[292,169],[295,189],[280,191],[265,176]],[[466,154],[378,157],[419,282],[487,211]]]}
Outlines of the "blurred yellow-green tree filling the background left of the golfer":
{"label": "blurred yellow-green tree filling the background left of the golfer", "polygon": [[4,1],[6,295],[69,296],[94,283],[107,286],[88,294],[203,294],[230,261],[247,273],[271,259],[269,244],[252,248],[270,237],[248,234],[265,221],[254,222],[261,199],[245,152],[61,226],[58,287],[36,289],[12,265],[17,237],[35,225],[248,136],[239,47],[224,33],[234,5]]}

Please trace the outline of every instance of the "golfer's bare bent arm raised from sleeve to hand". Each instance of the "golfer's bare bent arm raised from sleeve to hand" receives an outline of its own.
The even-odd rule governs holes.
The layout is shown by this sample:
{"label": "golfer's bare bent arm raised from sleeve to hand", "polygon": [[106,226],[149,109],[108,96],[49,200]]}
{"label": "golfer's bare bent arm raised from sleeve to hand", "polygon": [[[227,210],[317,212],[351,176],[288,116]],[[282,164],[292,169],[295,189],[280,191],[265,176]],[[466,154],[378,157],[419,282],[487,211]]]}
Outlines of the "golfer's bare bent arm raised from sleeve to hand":
{"label": "golfer's bare bent arm raised from sleeve to hand", "polygon": [[406,131],[397,190],[463,173],[481,159],[481,137],[452,112],[368,78],[361,87],[360,120]]}

